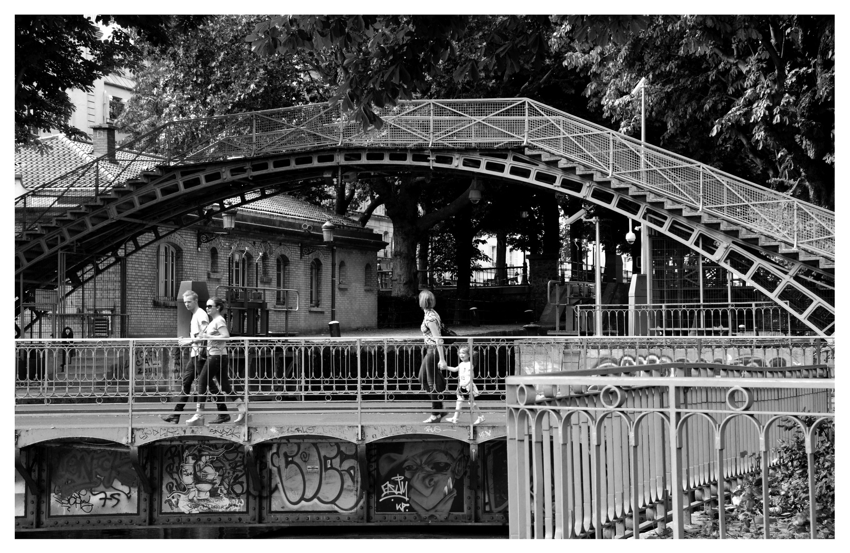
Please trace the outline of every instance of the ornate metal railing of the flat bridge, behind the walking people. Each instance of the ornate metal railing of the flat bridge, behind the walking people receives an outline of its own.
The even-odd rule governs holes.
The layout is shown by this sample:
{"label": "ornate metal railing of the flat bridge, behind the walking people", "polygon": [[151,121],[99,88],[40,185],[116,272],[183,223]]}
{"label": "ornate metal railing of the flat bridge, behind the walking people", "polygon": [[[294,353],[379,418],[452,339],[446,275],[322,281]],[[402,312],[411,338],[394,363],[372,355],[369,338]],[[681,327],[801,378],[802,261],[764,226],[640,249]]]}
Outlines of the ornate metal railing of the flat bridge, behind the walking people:
{"label": "ornate metal railing of the flat bridge, behind the walking people", "polygon": [[[457,349],[472,348],[473,378],[483,401],[502,401],[505,377],[561,370],[609,369],[672,360],[713,361],[742,367],[832,363],[834,340],[789,337],[474,337],[445,345],[450,365]],[[266,405],[318,401],[366,403],[426,401],[419,384],[422,340],[405,338],[232,338],[229,381],[236,396]],[[168,401],[181,394],[187,347],[177,339],[15,341],[16,401],[49,403],[107,398],[133,403]],[[247,360],[247,361],[246,361]],[[247,368],[247,370],[246,370]],[[247,376],[246,376],[247,375]],[[456,381],[447,375],[445,399]]]}

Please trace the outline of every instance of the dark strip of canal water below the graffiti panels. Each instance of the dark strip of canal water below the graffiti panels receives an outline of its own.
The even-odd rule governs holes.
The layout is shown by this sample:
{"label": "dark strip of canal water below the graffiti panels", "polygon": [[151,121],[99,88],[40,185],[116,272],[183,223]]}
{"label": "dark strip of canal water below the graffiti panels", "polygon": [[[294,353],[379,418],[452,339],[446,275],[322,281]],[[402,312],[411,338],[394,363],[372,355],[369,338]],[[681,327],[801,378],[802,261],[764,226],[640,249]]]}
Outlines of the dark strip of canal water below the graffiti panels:
{"label": "dark strip of canal water below the graffiti panels", "polygon": [[507,539],[507,526],[87,528],[16,532],[16,539]]}

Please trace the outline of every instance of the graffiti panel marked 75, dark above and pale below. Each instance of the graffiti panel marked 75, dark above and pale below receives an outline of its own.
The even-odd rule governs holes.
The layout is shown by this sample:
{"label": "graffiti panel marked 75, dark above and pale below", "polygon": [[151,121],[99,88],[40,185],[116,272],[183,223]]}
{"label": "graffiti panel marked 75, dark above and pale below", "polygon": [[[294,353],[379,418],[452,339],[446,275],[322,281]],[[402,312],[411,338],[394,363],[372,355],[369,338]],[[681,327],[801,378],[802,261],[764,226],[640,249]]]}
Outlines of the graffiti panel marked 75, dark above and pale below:
{"label": "graffiti panel marked 75, dark above and pale below", "polygon": [[139,513],[139,477],[126,452],[59,448],[49,466],[51,516]]}

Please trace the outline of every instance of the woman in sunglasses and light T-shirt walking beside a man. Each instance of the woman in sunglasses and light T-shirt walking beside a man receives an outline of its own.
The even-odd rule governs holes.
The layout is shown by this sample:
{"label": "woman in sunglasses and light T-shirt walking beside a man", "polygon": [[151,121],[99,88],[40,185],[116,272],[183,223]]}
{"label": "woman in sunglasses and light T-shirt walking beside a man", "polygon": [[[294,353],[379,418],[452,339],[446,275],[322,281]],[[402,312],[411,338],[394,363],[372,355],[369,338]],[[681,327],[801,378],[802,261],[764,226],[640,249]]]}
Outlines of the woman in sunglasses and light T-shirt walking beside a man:
{"label": "woman in sunglasses and light T-shirt walking beside a man", "polygon": [[[230,337],[230,331],[227,329],[227,321],[222,316],[223,311],[223,299],[220,297],[211,297],[207,300],[207,315],[209,315],[210,323],[207,324],[206,330],[202,330],[198,334],[199,338],[207,339],[207,364],[201,370],[201,375],[198,375],[198,410],[190,420],[186,421],[186,424],[193,424],[195,421],[203,420],[203,398],[207,395],[207,389],[212,394],[212,403],[215,403],[218,409],[218,417],[210,420],[210,423],[221,424],[230,420],[230,415],[227,414],[227,405],[219,400],[218,386],[216,386],[215,380],[213,380],[216,379],[221,384],[220,393],[224,395],[224,399],[232,395],[233,389],[230,387],[230,379],[227,374],[227,341],[225,341],[225,338]],[[241,413],[235,422],[242,420],[243,416],[245,415]]]}

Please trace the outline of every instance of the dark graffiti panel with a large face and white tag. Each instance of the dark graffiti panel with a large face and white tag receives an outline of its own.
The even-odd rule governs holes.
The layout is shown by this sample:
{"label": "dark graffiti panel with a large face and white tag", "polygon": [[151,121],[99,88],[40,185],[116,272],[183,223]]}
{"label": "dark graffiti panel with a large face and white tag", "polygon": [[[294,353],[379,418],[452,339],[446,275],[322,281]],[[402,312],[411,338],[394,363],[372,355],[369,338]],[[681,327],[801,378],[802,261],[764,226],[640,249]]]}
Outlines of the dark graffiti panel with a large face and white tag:
{"label": "dark graffiti panel with a large face and white tag", "polygon": [[464,512],[466,443],[378,443],[375,447],[377,512],[416,512],[425,521],[445,521],[450,513]]}

